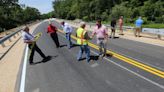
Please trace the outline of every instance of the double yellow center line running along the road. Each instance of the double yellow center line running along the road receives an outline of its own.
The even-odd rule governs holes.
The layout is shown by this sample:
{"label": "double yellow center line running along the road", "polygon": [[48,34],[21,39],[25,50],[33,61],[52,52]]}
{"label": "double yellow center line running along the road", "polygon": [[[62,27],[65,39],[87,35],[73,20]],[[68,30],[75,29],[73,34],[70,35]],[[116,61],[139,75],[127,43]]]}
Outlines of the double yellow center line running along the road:
{"label": "double yellow center line running along the road", "polygon": [[[64,33],[64,32],[61,31],[61,30],[59,30],[59,32]],[[77,38],[76,38],[75,36],[71,35],[71,37],[72,37],[73,39],[77,40]],[[96,49],[96,50],[99,50],[99,47],[98,47],[97,45],[93,44],[93,43],[90,43],[90,42],[89,42],[88,45],[89,45],[90,47]],[[115,57],[115,58],[117,58],[117,59],[120,59],[120,60],[122,60],[122,61],[124,61],[124,62],[126,62],[126,63],[128,63],[128,64],[131,64],[131,65],[136,66],[136,67],[138,67],[138,68],[140,68],[140,69],[142,69],[142,70],[145,70],[145,71],[147,71],[147,72],[149,72],[149,73],[152,73],[152,74],[157,75],[157,76],[159,76],[159,77],[161,77],[161,78],[164,78],[164,72],[163,72],[163,71],[160,71],[160,70],[158,70],[158,69],[156,69],[156,68],[153,68],[153,67],[151,67],[151,66],[148,66],[148,65],[145,65],[145,64],[143,64],[143,63],[140,63],[140,62],[138,62],[138,61],[136,61],[136,60],[133,60],[133,59],[131,59],[131,58],[127,58],[127,57],[125,57],[125,56],[123,56],[123,55],[120,55],[120,54],[115,53],[115,52],[110,51],[110,50],[107,50],[107,53],[108,53],[108,54],[112,54],[113,57]]]}

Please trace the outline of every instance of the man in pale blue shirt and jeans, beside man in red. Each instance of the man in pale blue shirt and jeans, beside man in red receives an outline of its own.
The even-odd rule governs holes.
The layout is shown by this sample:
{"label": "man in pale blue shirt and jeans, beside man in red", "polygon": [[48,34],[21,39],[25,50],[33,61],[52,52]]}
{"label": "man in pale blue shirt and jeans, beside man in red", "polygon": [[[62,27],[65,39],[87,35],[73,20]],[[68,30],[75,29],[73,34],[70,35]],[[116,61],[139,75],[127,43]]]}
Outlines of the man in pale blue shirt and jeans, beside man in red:
{"label": "man in pale blue shirt and jeans, beside man in red", "polygon": [[63,27],[63,31],[66,34],[66,39],[67,39],[67,46],[70,49],[72,47],[72,42],[71,42],[71,33],[72,33],[72,27],[68,25],[68,23],[62,22],[61,23]]}

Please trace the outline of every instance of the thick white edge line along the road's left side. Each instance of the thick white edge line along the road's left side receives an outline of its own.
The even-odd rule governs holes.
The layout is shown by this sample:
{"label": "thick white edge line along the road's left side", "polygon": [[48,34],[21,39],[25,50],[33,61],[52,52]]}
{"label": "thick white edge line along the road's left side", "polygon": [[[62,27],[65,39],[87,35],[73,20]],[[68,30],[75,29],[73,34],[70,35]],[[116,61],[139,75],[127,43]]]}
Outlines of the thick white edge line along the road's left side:
{"label": "thick white edge line along the road's left side", "polygon": [[28,60],[28,47],[27,47],[27,45],[26,45],[25,49],[26,50],[25,50],[25,56],[24,56],[24,60],[23,60],[23,70],[22,70],[19,92],[25,92],[26,67],[27,67],[27,60]]}

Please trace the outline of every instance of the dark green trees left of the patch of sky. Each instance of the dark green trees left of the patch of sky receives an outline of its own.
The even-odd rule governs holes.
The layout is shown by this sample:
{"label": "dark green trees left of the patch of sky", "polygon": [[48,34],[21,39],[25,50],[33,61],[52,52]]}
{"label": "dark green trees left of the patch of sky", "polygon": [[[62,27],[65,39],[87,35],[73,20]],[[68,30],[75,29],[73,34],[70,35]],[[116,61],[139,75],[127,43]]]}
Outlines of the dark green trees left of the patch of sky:
{"label": "dark green trees left of the patch of sky", "polygon": [[40,18],[33,7],[19,5],[18,0],[0,0],[0,31],[11,29]]}

